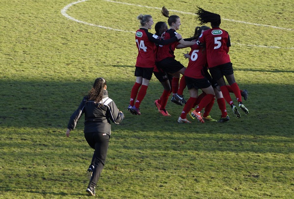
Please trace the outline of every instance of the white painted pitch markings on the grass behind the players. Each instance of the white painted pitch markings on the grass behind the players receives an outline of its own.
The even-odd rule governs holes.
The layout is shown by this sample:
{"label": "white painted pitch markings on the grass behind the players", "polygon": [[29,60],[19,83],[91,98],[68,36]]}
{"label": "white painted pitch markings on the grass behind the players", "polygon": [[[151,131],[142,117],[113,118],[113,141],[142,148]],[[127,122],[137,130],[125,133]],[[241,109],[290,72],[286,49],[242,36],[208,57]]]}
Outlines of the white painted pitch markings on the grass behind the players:
{"label": "white painted pitch markings on the grass behind the players", "polygon": [[[87,23],[87,22],[83,22],[83,21],[80,21],[80,20],[77,20],[73,17],[71,17],[70,15],[68,15],[66,12],[67,10],[75,5],[75,4],[78,4],[78,3],[82,3],[82,2],[85,2],[85,1],[88,1],[88,0],[79,0],[79,1],[75,1],[75,2],[72,2],[68,5],[66,5],[64,8],[62,8],[61,10],[61,14],[68,18],[69,20],[72,20],[72,21],[75,21],[75,22],[78,22],[78,23],[81,23],[81,24],[84,24],[84,25],[91,25],[91,26],[95,26],[95,27],[100,27],[100,28],[104,28],[104,29],[109,29],[109,30],[114,30],[114,31],[120,31],[120,32],[130,32],[130,33],[135,33],[135,31],[131,31],[131,30],[121,30],[121,29],[116,29],[116,28],[112,28],[112,27],[106,27],[106,26],[102,26],[102,25],[95,25],[95,24],[90,24],[90,23]],[[121,4],[126,4],[126,5],[134,5],[134,6],[138,6],[138,7],[146,7],[146,8],[150,8],[150,9],[158,9],[158,10],[161,10],[161,8],[159,7],[150,7],[150,6],[145,6],[145,5],[136,5],[136,4],[132,4],[132,3],[126,3],[126,2],[119,2],[119,1],[112,1],[112,0],[105,0],[105,1],[108,1],[108,2],[113,2],[113,3],[121,3]],[[194,13],[190,13],[190,12],[183,12],[183,11],[178,11],[178,10],[170,10],[172,12],[179,12],[179,13],[182,13],[182,14],[191,14],[191,15],[195,15]],[[253,23],[248,23],[248,22],[242,22],[242,21],[236,21],[236,20],[230,20],[230,19],[223,19],[223,20],[226,20],[226,21],[231,21],[231,22],[238,22],[238,23],[244,23],[244,24],[249,24],[249,25],[259,25],[259,26],[266,26],[266,27],[272,27],[272,28],[279,28],[279,29],[285,29],[285,30],[294,30],[294,29],[291,29],[291,28],[284,28],[284,27],[277,27],[277,26],[271,26],[271,25],[262,25],[262,24],[253,24]],[[232,43],[233,44],[233,43]],[[239,46],[247,46],[247,47],[259,47],[259,48],[270,48],[270,49],[294,49],[294,48],[284,48],[284,47],[277,47],[277,46],[262,46],[262,45],[246,45],[246,44],[240,44],[240,43],[234,43],[236,45],[239,45]]]}

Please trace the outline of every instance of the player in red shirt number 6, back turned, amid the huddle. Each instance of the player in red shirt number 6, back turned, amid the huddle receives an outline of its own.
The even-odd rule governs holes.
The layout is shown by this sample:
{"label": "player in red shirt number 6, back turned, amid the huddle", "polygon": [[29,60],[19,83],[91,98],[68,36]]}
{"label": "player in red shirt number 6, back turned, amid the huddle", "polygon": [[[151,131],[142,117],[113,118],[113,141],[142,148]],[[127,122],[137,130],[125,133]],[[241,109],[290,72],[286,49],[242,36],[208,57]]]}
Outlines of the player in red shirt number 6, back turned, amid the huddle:
{"label": "player in red shirt number 6, back turned, amid the huddle", "polygon": [[[207,26],[202,26],[200,28],[201,31],[210,29]],[[183,108],[182,114],[178,119],[178,123],[190,123],[187,120],[187,113],[190,111],[191,107],[195,104],[198,98],[198,89],[201,89],[203,92],[206,93],[206,95],[200,101],[197,108],[192,112],[192,116],[196,117],[199,122],[204,123],[201,115],[201,110],[212,103],[215,96],[214,88],[203,74],[203,69],[207,64],[206,50],[205,48],[194,44],[193,46],[191,46],[191,51],[189,52],[189,55],[189,63],[185,71],[185,79],[190,98],[187,100],[187,103]],[[211,119],[211,117],[209,118]]]}

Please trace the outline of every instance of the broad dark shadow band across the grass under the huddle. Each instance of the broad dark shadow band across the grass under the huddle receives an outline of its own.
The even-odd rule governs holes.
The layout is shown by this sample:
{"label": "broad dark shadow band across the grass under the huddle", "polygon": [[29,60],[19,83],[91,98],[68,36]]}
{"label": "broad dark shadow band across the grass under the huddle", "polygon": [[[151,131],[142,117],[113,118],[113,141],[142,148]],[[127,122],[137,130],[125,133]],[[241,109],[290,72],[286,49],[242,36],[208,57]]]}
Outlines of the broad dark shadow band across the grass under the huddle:
{"label": "broad dark shadow band across the grass under the huddle", "polygon": [[[293,135],[292,119],[294,106],[293,85],[258,84],[247,85],[249,98],[244,104],[249,115],[236,119],[227,105],[231,120],[227,124],[178,124],[183,106],[168,102],[166,108],[172,117],[161,116],[154,100],[162,92],[157,80],[150,82],[147,95],[142,101],[141,116],[134,116],[127,111],[132,81],[109,79],[107,89],[109,97],[117,107],[125,113],[125,120],[120,125],[112,125],[117,131],[131,132],[180,132],[180,133],[228,133],[246,135],[277,135],[289,137]],[[92,81],[56,82],[56,81],[0,81],[0,125],[3,127],[30,128],[66,128],[71,114],[80,104],[85,93],[91,88]],[[187,89],[186,89],[187,90]],[[187,92],[185,90],[185,92]],[[270,91],[270,92],[269,92]],[[186,93],[187,96],[187,93]],[[220,111],[214,104],[211,115],[218,118]],[[83,117],[78,128],[83,127]]]}

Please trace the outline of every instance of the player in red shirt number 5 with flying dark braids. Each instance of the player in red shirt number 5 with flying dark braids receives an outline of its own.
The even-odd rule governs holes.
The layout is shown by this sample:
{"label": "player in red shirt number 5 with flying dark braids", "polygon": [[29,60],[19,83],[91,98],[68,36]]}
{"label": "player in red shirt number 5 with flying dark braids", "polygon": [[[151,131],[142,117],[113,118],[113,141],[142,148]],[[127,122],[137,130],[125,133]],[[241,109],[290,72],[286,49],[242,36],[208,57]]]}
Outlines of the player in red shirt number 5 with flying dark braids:
{"label": "player in red shirt number 5 with flying dark braids", "polygon": [[240,89],[235,81],[233,65],[228,54],[231,46],[230,36],[227,31],[219,28],[221,23],[220,15],[208,12],[200,7],[198,7],[196,14],[198,15],[197,19],[200,21],[201,25],[210,23],[212,26],[212,29],[205,31],[200,35],[197,41],[197,45],[206,46],[208,67],[212,77],[220,86],[224,99],[230,104],[236,117],[240,118],[241,116],[238,108],[234,105],[228,88],[226,87],[223,76],[226,77],[239,102],[239,107],[247,115],[249,111],[242,103]]}

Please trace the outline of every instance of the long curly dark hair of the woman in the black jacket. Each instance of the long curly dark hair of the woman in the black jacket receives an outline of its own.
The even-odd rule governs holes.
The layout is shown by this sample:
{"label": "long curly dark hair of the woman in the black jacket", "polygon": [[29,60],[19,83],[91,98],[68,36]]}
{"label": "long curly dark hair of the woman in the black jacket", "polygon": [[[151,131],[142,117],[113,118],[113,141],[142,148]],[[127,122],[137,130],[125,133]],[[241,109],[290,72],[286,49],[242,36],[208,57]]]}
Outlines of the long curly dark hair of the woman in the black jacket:
{"label": "long curly dark hair of the woman in the black jacket", "polygon": [[106,80],[102,77],[95,79],[92,89],[88,92],[88,100],[95,101],[99,103],[103,98],[104,86],[106,84]]}

